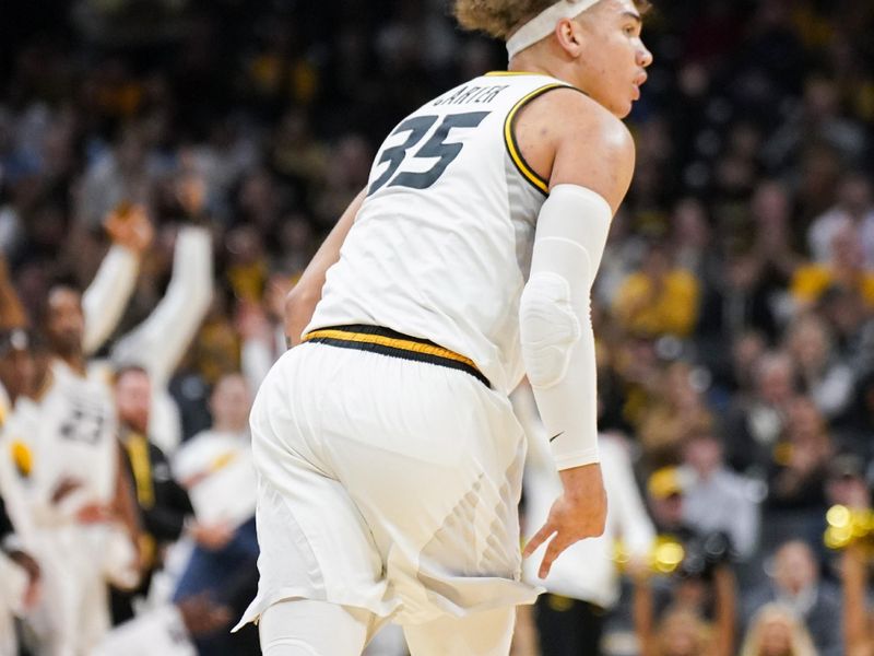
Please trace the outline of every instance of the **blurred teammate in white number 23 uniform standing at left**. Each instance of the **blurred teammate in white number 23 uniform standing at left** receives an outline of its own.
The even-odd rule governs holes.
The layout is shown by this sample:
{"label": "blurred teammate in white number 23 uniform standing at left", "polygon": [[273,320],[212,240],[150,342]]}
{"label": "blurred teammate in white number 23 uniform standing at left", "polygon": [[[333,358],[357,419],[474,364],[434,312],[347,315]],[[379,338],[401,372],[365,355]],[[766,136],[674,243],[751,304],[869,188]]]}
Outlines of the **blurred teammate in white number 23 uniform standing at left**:
{"label": "blurred teammate in white number 23 uniform standing at left", "polygon": [[51,656],[88,654],[109,628],[107,581],[131,586],[139,577],[115,405],[105,383],[84,373],[83,323],[78,294],[56,288],[47,312],[55,356],[42,394],[20,398],[4,426],[4,438],[29,454],[26,539],[45,572],[33,628]]}

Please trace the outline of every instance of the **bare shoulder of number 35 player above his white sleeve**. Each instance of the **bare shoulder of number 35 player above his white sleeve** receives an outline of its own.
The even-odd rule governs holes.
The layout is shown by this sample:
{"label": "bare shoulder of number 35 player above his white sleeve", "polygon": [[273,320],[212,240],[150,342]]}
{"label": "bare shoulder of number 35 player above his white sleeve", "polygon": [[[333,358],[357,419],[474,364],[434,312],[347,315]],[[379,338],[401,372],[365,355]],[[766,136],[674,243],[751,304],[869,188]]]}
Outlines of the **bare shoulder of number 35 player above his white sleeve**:
{"label": "bare shoulder of number 35 player above his white sleeve", "polygon": [[[603,196],[615,211],[631,183],[635,143],[628,128],[603,106],[567,87],[531,103],[520,132],[536,136],[550,187],[574,184]],[[520,134],[523,143],[530,140]],[[548,144],[548,145],[547,145]],[[533,150],[533,149],[532,149]],[[546,152],[547,151],[547,152]]]}

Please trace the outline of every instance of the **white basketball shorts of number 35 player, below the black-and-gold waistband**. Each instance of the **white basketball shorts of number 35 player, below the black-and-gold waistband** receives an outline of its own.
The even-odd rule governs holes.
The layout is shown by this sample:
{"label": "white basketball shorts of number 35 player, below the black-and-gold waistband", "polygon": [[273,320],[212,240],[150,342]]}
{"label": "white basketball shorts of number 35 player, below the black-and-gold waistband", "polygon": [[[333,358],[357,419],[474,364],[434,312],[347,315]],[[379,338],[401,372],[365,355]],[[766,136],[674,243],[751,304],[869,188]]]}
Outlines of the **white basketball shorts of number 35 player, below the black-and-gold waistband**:
{"label": "white basketball shorts of number 35 player, below the black-and-gold waistband", "polygon": [[429,363],[305,343],[251,413],[261,555],[243,622],[288,598],[403,624],[530,604],[524,437],[505,395]]}

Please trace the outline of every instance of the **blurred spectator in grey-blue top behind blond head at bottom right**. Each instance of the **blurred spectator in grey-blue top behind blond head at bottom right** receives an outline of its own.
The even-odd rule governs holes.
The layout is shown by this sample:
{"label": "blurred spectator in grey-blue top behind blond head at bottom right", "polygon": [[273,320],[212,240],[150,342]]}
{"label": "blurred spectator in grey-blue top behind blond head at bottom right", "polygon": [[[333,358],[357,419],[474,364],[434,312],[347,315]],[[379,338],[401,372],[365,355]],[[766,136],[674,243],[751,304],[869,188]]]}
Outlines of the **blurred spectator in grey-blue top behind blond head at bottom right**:
{"label": "blurred spectator in grey-blue top behind blond head at bottom right", "polygon": [[776,551],[771,579],[744,600],[744,624],[752,626],[759,609],[773,601],[803,620],[819,656],[843,654],[841,626],[836,621],[841,617],[840,595],[835,586],[820,579],[818,564],[806,542],[790,540]]}

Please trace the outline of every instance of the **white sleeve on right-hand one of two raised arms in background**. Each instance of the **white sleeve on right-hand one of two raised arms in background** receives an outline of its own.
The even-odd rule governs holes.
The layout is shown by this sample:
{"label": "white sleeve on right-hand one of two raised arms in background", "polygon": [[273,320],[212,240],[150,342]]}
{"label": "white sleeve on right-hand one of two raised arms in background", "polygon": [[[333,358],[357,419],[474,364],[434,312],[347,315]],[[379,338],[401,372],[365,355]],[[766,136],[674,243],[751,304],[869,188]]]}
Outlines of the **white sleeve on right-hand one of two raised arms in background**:
{"label": "white sleeve on right-hand one of two raised arms in background", "polygon": [[212,300],[212,237],[203,227],[179,230],[167,292],[149,317],[113,349],[116,363],[137,363],[153,385],[167,383]]}

